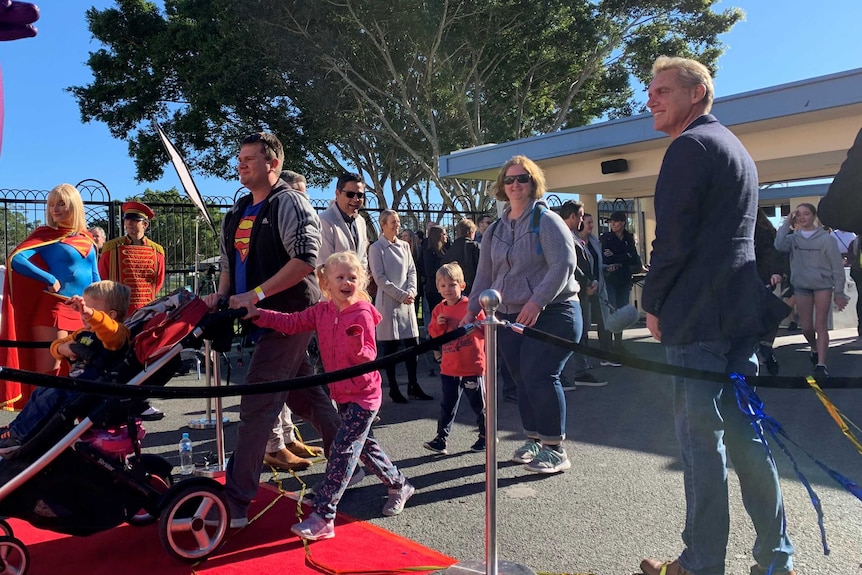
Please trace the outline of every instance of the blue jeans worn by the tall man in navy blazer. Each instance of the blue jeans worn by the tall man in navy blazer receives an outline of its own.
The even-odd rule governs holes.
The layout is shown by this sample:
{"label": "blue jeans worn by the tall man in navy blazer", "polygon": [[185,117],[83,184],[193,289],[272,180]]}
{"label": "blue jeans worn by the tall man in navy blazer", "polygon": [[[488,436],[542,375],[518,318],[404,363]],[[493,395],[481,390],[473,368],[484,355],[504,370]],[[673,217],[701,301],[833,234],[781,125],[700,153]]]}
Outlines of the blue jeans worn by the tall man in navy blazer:
{"label": "blue jeans worn by the tall man in navy blazer", "polygon": [[[671,365],[721,373],[757,373],[757,338],[667,345]],[[686,549],[680,565],[698,575],[724,575],[730,526],[727,501],[727,455],[739,476],[742,501],[757,538],[754,559],[775,572],[793,568],[793,544],[785,529],[778,472],[751,424],[737,406],[733,384],[673,378],[674,424],[685,481]],[[725,449],[727,453],[725,453]]]}

